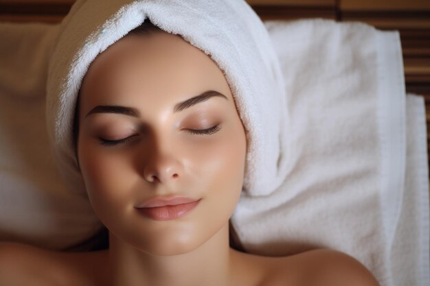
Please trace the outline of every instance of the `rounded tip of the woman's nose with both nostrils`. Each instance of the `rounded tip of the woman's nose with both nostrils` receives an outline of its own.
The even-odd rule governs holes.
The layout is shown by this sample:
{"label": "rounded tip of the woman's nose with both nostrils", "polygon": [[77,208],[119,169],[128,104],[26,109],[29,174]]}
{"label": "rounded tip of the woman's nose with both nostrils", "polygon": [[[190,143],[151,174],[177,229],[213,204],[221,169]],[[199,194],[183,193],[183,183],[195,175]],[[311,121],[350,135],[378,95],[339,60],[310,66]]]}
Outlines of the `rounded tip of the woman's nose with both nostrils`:
{"label": "rounded tip of the woman's nose with both nostrils", "polygon": [[148,182],[160,182],[166,184],[178,180],[183,173],[183,167],[177,156],[161,154],[154,150],[144,162],[143,176]]}

